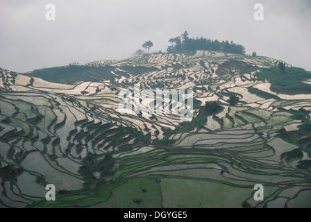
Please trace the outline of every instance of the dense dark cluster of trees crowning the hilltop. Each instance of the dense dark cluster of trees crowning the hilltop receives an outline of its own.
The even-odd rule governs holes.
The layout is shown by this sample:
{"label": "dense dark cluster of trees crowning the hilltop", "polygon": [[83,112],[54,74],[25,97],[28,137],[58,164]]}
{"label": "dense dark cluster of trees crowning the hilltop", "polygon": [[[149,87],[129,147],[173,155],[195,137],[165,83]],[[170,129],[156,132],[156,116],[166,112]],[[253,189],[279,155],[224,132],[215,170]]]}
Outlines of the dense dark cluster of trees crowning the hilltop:
{"label": "dense dark cluster of trees crowning the hilltop", "polygon": [[175,38],[169,40],[171,46],[168,46],[167,52],[172,53],[176,51],[223,51],[226,53],[235,53],[245,55],[245,48],[240,44],[235,44],[232,41],[219,42],[218,40],[210,40],[204,37],[190,38],[187,31]]}

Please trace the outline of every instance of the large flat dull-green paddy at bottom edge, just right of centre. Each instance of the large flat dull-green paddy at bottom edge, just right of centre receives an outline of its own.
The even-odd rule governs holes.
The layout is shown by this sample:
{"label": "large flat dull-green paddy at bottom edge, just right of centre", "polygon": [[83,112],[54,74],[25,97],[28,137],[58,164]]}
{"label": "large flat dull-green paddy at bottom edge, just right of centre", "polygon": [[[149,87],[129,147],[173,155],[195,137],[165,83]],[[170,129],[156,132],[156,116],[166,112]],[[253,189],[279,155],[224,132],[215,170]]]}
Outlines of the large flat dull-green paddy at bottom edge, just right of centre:
{"label": "large flat dull-green paddy at bottom edge, just right of centre", "polygon": [[221,183],[163,178],[164,207],[242,207],[253,187],[230,187]]}

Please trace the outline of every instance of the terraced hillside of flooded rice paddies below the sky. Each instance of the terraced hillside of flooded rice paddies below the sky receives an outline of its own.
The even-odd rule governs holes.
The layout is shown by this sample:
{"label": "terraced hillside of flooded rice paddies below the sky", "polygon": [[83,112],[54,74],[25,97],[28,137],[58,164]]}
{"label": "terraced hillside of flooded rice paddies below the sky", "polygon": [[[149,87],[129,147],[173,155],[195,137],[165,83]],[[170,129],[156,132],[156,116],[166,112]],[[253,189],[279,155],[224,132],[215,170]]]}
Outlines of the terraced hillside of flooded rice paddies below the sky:
{"label": "terraced hillside of flooded rice paddies below the sky", "polygon": [[[311,207],[311,74],[279,62],[196,51],[1,69],[0,206]],[[193,89],[194,118],[118,112],[137,83]]]}

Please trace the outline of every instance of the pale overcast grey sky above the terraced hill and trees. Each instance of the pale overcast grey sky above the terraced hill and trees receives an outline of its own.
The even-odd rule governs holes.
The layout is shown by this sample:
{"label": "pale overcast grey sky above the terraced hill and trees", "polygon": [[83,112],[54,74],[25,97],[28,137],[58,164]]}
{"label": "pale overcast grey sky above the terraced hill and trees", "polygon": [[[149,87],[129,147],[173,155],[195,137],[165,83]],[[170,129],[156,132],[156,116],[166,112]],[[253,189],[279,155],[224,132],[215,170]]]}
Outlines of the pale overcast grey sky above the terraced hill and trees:
{"label": "pale overcast grey sky above the terraced hill and trees", "polygon": [[[56,21],[45,19],[47,3]],[[253,19],[255,3],[264,21]],[[185,30],[311,70],[311,0],[0,0],[0,30],[0,67],[20,72],[128,58],[144,40],[165,51]]]}

